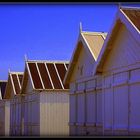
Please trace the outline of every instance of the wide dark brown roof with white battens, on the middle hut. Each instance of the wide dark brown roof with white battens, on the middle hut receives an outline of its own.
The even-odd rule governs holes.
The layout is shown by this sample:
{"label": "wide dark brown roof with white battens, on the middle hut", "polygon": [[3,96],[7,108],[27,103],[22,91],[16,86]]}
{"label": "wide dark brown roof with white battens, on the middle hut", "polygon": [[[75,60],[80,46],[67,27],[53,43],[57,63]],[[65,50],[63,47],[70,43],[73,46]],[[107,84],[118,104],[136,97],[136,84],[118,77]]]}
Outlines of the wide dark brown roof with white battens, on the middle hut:
{"label": "wide dark brown roof with white battens, on the middle hut", "polygon": [[34,90],[64,90],[68,85],[62,83],[68,68],[68,61],[28,60],[25,63],[23,90],[28,76]]}

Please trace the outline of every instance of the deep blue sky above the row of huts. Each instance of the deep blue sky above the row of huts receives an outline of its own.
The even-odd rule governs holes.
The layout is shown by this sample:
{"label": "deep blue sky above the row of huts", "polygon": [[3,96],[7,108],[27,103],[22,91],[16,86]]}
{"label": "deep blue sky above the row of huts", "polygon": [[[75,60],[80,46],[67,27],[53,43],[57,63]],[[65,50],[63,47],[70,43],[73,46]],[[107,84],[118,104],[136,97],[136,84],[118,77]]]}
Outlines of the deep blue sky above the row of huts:
{"label": "deep blue sky above the row of huts", "polygon": [[8,69],[24,71],[28,59],[70,60],[79,34],[108,32],[117,11],[115,4],[0,5],[0,80]]}

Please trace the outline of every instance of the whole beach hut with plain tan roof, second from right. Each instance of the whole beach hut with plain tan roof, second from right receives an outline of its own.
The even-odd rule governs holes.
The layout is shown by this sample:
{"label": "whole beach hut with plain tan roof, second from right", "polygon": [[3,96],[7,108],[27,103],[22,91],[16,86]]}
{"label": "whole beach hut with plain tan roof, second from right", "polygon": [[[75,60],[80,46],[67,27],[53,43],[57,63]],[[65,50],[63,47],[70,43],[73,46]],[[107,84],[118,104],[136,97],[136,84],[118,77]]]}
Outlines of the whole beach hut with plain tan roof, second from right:
{"label": "whole beach hut with plain tan roof, second from right", "polygon": [[101,77],[93,68],[107,33],[80,33],[68,71],[64,78],[70,84],[70,135],[102,133]]}

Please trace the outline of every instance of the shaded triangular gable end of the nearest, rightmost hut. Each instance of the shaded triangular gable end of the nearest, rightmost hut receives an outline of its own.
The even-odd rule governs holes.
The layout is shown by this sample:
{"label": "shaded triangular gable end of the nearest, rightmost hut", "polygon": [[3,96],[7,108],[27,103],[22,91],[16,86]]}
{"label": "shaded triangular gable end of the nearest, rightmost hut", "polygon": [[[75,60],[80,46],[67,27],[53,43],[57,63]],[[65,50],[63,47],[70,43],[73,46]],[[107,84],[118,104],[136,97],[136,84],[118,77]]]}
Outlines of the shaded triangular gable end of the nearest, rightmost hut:
{"label": "shaded triangular gable end of the nearest, rightmost hut", "polygon": [[[97,59],[93,75],[103,72],[103,69],[104,71],[113,70],[140,60],[139,44],[139,31],[119,9]],[[105,63],[106,68],[103,68]]]}

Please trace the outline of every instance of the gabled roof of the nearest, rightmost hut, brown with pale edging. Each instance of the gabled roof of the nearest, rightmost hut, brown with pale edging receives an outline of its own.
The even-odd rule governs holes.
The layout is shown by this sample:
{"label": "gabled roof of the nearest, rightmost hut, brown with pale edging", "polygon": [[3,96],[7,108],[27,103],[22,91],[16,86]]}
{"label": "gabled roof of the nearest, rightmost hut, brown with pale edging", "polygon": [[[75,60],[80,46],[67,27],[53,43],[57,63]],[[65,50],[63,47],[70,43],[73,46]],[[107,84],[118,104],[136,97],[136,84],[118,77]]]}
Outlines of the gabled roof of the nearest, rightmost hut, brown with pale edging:
{"label": "gabled roof of the nearest, rightmost hut, brown with pale edging", "polygon": [[122,24],[125,25],[131,34],[133,34],[136,41],[140,43],[140,8],[120,7],[95,64],[93,75],[98,72],[102,72],[102,66],[107,58],[108,53],[112,49],[111,44],[113,43],[114,38],[116,37],[117,32]]}

